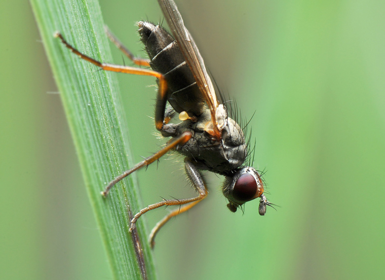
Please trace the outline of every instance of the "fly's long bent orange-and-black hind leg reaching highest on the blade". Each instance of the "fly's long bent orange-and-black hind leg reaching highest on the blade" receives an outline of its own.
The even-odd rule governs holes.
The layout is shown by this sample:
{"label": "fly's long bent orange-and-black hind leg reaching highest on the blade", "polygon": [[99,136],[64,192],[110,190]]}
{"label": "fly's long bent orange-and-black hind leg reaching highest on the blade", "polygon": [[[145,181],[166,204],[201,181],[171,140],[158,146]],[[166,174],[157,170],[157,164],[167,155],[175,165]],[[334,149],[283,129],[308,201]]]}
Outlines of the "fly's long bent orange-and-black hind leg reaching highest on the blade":
{"label": "fly's long bent orange-and-black hind leg reaching highest on the blade", "polygon": [[[152,76],[158,79],[158,94],[156,97],[156,105],[155,105],[155,127],[158,131],[164,132],[167,136],[175,136],[175,131],[169,127],[164,121],[164,113],[166,110],[167,104],[167,82],[164,76],[156,71],[150,69],[140,69],[130,66],[122,66],[116,64],[109,63],[101,63],[85,54],[79,52],[76,48],[70,45],[59,32],[55,32],[55,37],[59,38],[62,43],[69,48],[74,54],[76,54],[79,58],[96,65],[102,70],[127,73],[127,74],[135,74],[135,75],[143,75],[143,76]],[[174,133],[174,134],[173,134]]]}

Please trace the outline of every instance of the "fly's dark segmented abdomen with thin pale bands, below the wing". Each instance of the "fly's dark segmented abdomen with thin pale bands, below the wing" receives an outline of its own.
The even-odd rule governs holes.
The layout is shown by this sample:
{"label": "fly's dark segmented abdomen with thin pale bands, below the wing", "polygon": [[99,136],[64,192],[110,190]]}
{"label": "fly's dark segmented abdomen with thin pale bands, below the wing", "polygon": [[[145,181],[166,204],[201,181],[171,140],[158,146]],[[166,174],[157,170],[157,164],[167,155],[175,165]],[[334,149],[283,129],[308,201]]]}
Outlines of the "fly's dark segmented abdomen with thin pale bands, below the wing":
{"label": "fly's dark segmented abdomen with thin pale bands, below the wing", "polygon": [[151,68],[163,74],[167,81],[170,105],[178,113],[187,111],[200,115],[204,99],[174,38],[164,28],[150,22],[139,22],[138,26]]}

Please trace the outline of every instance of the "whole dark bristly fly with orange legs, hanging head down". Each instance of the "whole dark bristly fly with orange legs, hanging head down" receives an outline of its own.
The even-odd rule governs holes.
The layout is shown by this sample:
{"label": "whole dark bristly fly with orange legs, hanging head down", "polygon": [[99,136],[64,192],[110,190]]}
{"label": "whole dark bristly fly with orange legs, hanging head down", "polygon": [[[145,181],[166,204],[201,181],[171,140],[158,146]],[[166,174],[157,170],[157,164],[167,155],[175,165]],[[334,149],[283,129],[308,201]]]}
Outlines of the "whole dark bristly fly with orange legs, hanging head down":
{"label": "whole dark bristly fly with orange legs, hanging head down", "polygon": [[[112,42],[134,64],[148,66],[152,70],[99,62],[79,52],[60,33],[55,33],[55,36],[59,37],[73,53],[102,70],[147,75],[157,79],[155,128],[163,137],[171,139],[154,155],[118,175],[102,192],[106,197],[117,182],[134,171],[150,165],[169,151],[177,151],[185,156],[185,171],[198,195],[186,199],[164,199],[140,210],[130,222],[129,229],[132,232],[136,221],[144,213],[162,206],[180,206],[155,225],[150,234],[152,247],[155,235],[168,220],[190,210],[207,196],[207,187],[200,170],[225,176],[222,192],[229,200],[227,207],[232,212],[245,202],[256,198],[260,198],[260,215],[265,215],[266,206],[272,206],[264,195],[261,174],[253,167],[244,165],[248,150],[243,131],[227,115],[226,106],[218,101],[203,59],[183,23],[175,2],[158,0],[158,3],[172,35],[159,25],[147,21],[138,22],[139,35],[149,60],[134,57],[107,30]],[[169,123],[176,113],[179,114],[181,122]]]}

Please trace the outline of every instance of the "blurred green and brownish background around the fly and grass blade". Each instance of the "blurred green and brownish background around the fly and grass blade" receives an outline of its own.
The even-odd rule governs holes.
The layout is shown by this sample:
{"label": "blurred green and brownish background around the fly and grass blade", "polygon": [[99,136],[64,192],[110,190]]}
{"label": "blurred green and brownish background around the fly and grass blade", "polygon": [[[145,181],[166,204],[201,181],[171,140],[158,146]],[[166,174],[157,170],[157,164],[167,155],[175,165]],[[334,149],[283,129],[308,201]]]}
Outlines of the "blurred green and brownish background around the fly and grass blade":
{"label": "blurred green and brownish background around the fly and grass blade", "polygon": [[[231,213],[222,178],[157,236],[159,279],[379,279],[385,274],[385,2],[177,1],[206,66],[250,118],[268,199]],[[141,54],[155,0],[101,0]],[[29,4],[1,1],[2,279],[111,279]],[[114,50],[115,62],[122,56]],[[128,62],[127,62],[128,63]],[[136,161],[154,137],[154,79],[119,75]],[[129,88],[135,96],[124,95]],[[138,173],[145,204],[193,194],[183,161]],[[169,209],[146,214],[148,228]]]}

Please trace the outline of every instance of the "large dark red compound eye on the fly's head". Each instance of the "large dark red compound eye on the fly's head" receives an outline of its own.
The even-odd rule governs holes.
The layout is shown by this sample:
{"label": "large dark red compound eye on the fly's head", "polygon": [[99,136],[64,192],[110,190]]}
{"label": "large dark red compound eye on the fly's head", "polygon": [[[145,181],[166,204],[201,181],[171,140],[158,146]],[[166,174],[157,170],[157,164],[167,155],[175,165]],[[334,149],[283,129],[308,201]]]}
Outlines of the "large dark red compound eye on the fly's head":
{"label": "large dark red compound eye on the fly's head", "polygon": [[232,197],[239,202],[246,202],[256,198],[258,183],[251,174],[240,175],[232,190]]}

